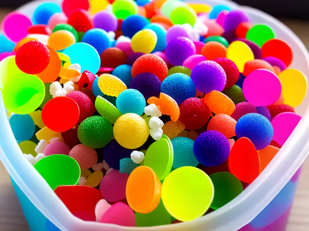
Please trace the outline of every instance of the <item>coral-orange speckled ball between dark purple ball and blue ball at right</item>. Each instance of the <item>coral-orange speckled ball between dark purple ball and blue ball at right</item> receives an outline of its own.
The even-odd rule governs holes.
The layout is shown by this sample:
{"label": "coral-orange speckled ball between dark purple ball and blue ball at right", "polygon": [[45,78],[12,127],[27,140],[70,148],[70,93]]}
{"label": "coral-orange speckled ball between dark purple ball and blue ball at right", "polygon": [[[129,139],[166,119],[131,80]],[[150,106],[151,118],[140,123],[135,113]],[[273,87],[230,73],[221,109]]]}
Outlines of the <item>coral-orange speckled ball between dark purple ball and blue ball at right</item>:
{"label": "coral-orange speckled ball between dark purple ball and blue ball at right", "polygon": [[227,139],[230,139],[236,136],[236,123],[237,121],[229,115],[217,114],[208,122],[207,131],[214,130],[221,132]]}

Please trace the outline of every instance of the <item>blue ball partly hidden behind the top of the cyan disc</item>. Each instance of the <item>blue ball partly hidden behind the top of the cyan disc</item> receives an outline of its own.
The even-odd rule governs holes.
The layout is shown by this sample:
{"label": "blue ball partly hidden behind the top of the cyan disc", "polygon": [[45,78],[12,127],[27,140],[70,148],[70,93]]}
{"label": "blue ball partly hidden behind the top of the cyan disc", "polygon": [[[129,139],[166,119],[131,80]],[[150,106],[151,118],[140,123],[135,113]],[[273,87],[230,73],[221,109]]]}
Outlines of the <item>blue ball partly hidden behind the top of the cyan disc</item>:
{"label": "blue ball partly hidden behind the top of the cyan disc", "polygon": [[88,43],[94,47],[99,55],[111,45],[107,32],[100,28],[88,30],[82,38],[82,43]]}

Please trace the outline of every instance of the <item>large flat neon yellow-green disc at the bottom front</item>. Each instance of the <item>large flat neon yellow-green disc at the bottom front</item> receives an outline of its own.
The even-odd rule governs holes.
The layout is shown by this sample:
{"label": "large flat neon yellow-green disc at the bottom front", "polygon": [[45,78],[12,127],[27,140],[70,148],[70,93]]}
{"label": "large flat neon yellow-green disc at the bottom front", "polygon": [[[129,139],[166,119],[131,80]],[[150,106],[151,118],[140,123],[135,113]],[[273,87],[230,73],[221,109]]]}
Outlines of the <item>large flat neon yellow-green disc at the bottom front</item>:
{"label": "large flat neon yellow-green disc at the bottom front", "polygon": [[165,178],[161,197],[171,216],[179,221],[192,221],[209,209],[214,199],[214,185],[201,169],[184,166]]}

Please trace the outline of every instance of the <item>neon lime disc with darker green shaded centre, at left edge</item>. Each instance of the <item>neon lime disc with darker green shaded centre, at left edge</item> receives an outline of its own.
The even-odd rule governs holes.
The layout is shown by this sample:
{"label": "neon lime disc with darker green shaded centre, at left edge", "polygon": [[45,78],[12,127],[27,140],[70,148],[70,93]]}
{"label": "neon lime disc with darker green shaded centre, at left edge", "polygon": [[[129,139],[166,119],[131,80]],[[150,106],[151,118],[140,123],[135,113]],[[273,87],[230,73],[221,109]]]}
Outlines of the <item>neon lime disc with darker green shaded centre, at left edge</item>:
{"label": "neon lime disc with darker green shaded centre, at left edge", "polygon": [[2,95],[7,110],[25,115],[41,105],[45,86],[39,77],[22,73],[6,82]]}

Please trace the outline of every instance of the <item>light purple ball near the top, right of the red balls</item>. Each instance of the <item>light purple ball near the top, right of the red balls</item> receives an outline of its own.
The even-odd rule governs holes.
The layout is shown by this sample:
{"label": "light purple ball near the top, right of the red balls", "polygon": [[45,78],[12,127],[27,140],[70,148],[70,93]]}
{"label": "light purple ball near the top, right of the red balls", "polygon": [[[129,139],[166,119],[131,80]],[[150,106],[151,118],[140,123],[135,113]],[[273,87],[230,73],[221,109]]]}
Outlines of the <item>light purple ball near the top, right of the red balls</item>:
{"label": "light purple ball near the top, right of the red balls", "polygon": [[117,30],[118,20],[113,13],[106,10],[99,11],[93,17],[94,28],[101,28],[105,31]]}

